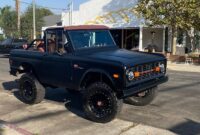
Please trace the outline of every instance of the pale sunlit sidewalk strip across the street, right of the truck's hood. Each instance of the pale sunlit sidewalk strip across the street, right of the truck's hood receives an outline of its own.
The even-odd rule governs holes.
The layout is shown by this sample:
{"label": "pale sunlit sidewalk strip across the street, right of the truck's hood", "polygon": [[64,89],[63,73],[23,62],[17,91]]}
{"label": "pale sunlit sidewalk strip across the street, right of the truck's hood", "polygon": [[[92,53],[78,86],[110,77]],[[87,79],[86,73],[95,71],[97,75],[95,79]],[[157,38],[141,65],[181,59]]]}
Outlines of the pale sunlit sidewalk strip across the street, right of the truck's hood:
{"label": "pale sunlit sidewalk strip across the street, right of the truck's hood", "polygon": [[200,65],[193,64],[176,64],[176,63],[167,63],[167,69],[174,71],[185,71],[185,72],[200,72]]}

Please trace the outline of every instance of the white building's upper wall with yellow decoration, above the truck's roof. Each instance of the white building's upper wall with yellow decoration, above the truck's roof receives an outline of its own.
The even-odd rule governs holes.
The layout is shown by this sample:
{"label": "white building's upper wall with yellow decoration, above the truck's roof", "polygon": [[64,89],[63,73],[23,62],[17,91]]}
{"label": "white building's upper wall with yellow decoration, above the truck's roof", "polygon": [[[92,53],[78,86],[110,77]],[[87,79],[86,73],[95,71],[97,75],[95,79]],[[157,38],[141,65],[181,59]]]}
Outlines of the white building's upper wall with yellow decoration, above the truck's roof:
{"label": "white building's upper wall with yellow decoration, above the truck's roof", "polygon": [[[72,15],[72,25],[104,24],[110,27],[138,27],[133,8],[137,0],[89,0],[80,5]],[[63,13],[63,25],[69,25],[69,13]],[[130,19],[131,18],[131,19]]]}

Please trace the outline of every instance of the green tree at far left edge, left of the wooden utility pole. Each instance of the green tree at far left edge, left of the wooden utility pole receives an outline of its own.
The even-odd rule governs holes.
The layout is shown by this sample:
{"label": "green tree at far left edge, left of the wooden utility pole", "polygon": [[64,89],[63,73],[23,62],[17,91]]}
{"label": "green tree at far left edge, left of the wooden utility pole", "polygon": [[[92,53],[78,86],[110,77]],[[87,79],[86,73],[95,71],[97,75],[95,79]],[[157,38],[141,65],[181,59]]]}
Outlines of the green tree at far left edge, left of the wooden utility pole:
{"label": "green tree at far left edge, left of the wooden utility pole", "polygon": [[11,9],[10,6],[6,6],[0,9],[0,27],[4,30],[4,34],[7,37],[17,36],[16,31],[16,12]]}

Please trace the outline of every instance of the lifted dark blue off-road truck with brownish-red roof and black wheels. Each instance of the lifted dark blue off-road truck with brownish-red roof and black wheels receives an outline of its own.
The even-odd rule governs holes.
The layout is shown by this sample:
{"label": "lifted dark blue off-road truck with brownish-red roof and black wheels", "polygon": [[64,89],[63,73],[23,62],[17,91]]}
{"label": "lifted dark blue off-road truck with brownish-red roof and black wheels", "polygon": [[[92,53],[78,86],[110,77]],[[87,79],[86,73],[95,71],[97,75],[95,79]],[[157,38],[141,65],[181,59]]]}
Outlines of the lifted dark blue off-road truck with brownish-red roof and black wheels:
{"label": "lifted dark blue off-road truck with brownish-red roof and black wheels", "polygon": [[10,54],[10,73],[22,74],[19,94],[26,104],[40,103],[46,87],[79,91],[87,118],[105,123],[123,101],[149,104],[168,80],[163,55],[119,49],[105,26],[48,28],[43,40],[44,52],[33,43]]}

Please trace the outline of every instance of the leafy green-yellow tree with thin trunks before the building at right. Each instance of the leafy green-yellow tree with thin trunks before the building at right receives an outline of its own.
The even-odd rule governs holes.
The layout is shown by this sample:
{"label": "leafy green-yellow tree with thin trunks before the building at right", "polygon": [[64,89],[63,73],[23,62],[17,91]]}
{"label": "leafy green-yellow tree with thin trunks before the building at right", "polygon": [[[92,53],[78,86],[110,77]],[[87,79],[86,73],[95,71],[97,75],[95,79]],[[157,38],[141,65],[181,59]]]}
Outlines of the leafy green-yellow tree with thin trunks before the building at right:
{"label": "leafy green-yellow tree with thin trunks before the building at right", "polygon": [[139,0],[136,11],[150,26],[171,26],[173,54],[176,51],[178,28],[186,30],[193,45],[194,29],[200,30],[199,0]]}

